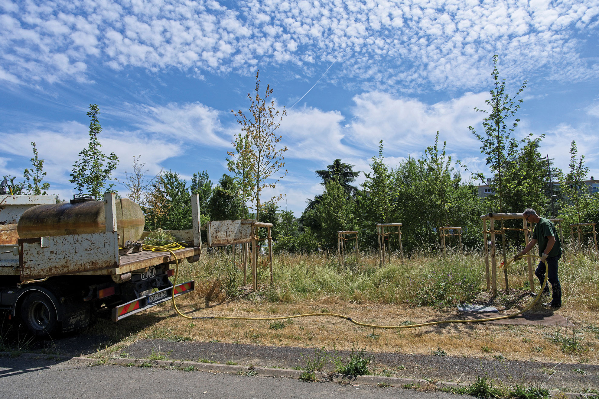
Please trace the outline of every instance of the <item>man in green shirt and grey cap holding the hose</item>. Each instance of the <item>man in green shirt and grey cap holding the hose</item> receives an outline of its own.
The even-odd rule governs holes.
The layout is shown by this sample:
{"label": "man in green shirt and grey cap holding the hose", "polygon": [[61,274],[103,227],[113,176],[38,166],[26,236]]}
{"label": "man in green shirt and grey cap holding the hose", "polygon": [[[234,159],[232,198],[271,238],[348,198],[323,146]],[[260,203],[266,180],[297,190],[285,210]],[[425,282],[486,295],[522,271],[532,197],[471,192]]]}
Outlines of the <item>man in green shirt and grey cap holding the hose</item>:
{"label": "man in green shirt and grey cap holding the hose", "polygon": [[[547,261],[547,266],[549,266],[547,280],[551,283],[552,288],[552,300],[549,306],[555,308],[561,307],[561,286],[558,279],[558,260],[561,257],[561,243],[559,242],[558,232],[555,230],[552,221],[537,216],[537,212],[534,209],[525,209],[522,215],[524,215],[527,221],[536,223],[536,226],[533,231],[533,239],[528,243],[526,248],[522,249],[522,252],[514,257],[514,260],[518,260],[522,255],[527,254],[538,242],[541,261],[534,274],[539,278],[539,282],[542,285],[546,272],[544,261]],[[548,287],[545,287],[544,293],[549,293]]]}

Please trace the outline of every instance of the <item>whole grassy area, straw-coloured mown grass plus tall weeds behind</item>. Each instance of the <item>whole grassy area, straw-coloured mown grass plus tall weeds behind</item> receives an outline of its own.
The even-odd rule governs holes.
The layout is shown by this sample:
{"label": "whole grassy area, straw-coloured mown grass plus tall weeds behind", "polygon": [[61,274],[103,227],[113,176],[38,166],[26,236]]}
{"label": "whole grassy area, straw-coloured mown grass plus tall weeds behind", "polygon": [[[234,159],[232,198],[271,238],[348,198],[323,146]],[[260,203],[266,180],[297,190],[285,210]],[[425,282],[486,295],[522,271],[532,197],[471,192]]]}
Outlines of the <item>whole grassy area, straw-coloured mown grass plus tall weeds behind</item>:
{"label": "whole grassy area, straw-coloured mown grass plus tall weeds behind", "polygon": [[[331,312],[386,325],[455,319],[461,315],[454,306],[415,306],[414,296],[423,293],[422,287],[418,287],[423,284],[422,279],[418,279],[419,274],[434,276],[435,272],[446,271],[447,267],[456,264],[459,267],[452,270],[465,270],[467,279],[478,275],[477,292],[470,296],[470,300],[488,301],[489,295],[482,291],[485,288],[484,266],[479,254],[452,254],[444,259],[436,255],[419,255],[407,259],[405,264],[392,258],[385,269],[380,269],[376,257],[371,255],[339,267],[334,259],[321,255],[284,254],[275,260],[274,287],[266,284],[268,276],[263,269],[260,292],[237,300],[229,299],[226,293],[239,292],[234,285],[241,283],[239,272],[226,261],[225,254],[212,254],[196,264],[181,266],[183,276],[180,281],[196,278],[197,290],[180,297],[177,304],[182,312],[193,316],[256,317]],[[438,347],[453,356],[596,364],[599,361],[599,334],[586,327],[597,325],[599,316],[597,254],[565,256],[560,267],[564,307],[556,313],[577,325],[576,342],[580,345],[575,351],[564,351],[562,343],[555,339],[565,333],[570,339],[573,337],[572,328],[566,331],[564,327],[481,323],[376,330],[343,319],[317,316],[289,319],[283,327],[273,328],[269,321],[188,320],[174,315],[170,303],[131,316],[116,325],[99,321],[92,328],[95,333],[107,334],[123,343],[151,337],[327,349],[350,349],[359,345],[375,352],[411,354],[431,354]],[[467,269],[474,272],[468,274]],[[509,278],[510,284],[520,287],[519,290],[514,290],[516,294],[511,297],[498,296],[492,303],[500,309],[503,309],[502,305],[521,309],[531,300],[524,297],[514,303],[514,297],[526,290],[525,262],[510,270]],[[447,292],[461,295],[459,291]],[[207,296],[210,301],[206,300]],[[445,303],[455,301],[458,299]]]}

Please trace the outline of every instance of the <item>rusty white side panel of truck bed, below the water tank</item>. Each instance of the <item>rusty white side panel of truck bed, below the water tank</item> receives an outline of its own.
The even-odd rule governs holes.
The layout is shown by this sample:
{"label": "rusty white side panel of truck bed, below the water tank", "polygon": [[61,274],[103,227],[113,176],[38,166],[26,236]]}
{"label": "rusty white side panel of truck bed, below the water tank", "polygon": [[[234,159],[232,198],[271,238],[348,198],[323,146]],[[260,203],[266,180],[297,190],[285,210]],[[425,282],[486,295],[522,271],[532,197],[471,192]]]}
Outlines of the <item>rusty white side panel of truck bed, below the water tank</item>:
{"label": "rusty white side panel of truck bed, below the water tank", "polygon": [[19,239],[22,280],[118,266],[117,232]]}

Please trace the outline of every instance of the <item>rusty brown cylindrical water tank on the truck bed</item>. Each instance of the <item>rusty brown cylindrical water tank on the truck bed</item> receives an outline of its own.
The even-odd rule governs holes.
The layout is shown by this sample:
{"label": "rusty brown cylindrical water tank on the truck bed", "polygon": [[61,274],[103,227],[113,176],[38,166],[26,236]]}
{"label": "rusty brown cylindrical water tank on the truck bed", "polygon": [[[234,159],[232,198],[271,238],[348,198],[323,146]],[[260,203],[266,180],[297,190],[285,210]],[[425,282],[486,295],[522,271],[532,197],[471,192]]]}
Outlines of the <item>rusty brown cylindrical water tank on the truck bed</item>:
{"label": "rusty brown cylindrical water tank on the truck bed", "polygon": [[[141,208],[130,199],[116,200],[119,246],[141,238],[146,220]],[[27,209],[17,224],[20,238],[65,236],[106,231],[104,201],[55,203]]]}

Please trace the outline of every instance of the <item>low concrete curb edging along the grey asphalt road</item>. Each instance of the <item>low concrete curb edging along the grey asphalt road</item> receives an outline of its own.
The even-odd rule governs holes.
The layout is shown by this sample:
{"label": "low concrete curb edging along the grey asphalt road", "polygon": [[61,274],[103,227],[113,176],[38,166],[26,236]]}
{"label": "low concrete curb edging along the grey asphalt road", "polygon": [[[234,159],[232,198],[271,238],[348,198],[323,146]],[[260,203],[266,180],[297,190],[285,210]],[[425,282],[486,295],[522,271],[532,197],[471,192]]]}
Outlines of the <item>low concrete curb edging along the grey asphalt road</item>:
{"label": "low concrete curb edging along the grey asphalt road", "polygon": [[[0,352],[0,356],[10,356],[11,352]],[[76,361],[78,363],[87,363],[89,365],[104,364],[100,360],[80,356],[65,356],[65,355],[44,355],[44,354],[17,354],[14,357],[25,357],[31,359],[47,359],[47,360],[66,360]],[[292,370],[291,368],[270,368],[270,367],[254,367],[254,366],[238,366],[234,364],[219,364],[219,363],[201,363],[197,361],[185,360],[149,360],[149,359],[132,359],[132,358],[114,358],[108,360],[108,364],[117,364],[119,366],[146,366],[146,367],[174,367],[184,369],[193,367],[195,371],[205,371],[208,373],[229,373],[229,374],[244,374],[251,372],[253,375],[263,377],[286,377],[299,378],[302,370]],[[465,382],[449,382],[438,381],[432,383],[428,380],[412,379],[403,377],[384,377],[384,376],[358,376],[351,377],[345,374],[338,373],[322,373],[321,371],[314,372],[314,376],[319,380],[337,382],[337,383],[354,383],[364,385],[382,385],[382,386],[405,386],[405,385],[435,385],[436,388],[465,388],[470,384]],[[586,399],[598,397],[597,394],[585,394],[582,392],[561,392],[549,391],[552,398],[559,399]]]}

